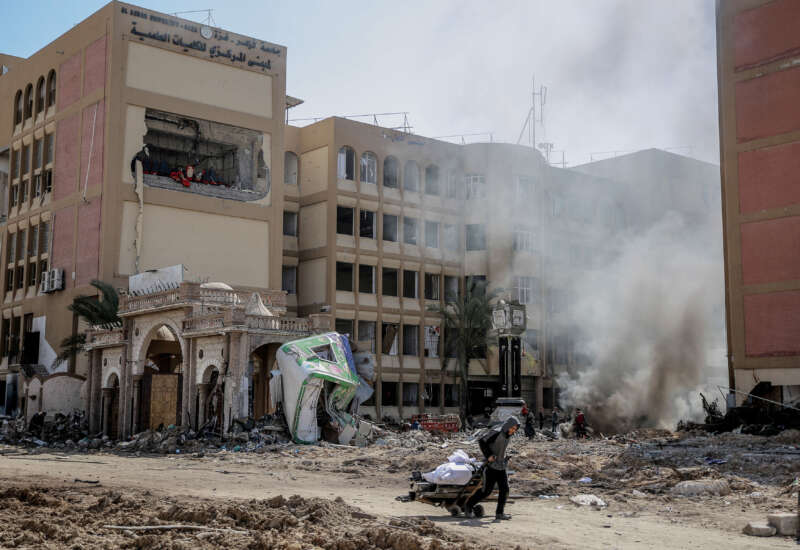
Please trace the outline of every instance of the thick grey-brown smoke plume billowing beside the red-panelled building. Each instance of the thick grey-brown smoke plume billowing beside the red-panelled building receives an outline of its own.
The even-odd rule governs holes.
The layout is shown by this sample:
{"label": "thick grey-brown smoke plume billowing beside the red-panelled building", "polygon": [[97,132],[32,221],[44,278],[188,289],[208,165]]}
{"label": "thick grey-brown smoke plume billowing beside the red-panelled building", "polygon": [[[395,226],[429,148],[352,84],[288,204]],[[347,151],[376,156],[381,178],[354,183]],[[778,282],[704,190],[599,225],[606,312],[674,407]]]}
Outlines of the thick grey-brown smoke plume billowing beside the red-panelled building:
{"label": "thick grey-brown smoke plume billowing beside the red-panelled building", "polygon": [[720,374],[709,352],[724,342],[718,235],[670,213],[574,281],[562,326],[584,363],[559,376],[562,407],[582,408],[605,433],[698,416],[698,387]]}

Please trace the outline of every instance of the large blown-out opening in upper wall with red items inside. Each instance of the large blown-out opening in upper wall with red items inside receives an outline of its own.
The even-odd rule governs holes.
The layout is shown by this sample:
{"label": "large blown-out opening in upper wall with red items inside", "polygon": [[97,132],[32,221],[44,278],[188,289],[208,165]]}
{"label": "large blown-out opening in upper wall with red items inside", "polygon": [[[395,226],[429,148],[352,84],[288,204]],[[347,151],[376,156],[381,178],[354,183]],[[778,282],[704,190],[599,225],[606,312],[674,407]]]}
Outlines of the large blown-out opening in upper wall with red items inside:
{"label": "large blown-out opening in upper wall with red items inside", "polygon": [[257,200],[269,192],[264,135],[229,124],[147,109],[142,162],[144,182],[154,187]]}

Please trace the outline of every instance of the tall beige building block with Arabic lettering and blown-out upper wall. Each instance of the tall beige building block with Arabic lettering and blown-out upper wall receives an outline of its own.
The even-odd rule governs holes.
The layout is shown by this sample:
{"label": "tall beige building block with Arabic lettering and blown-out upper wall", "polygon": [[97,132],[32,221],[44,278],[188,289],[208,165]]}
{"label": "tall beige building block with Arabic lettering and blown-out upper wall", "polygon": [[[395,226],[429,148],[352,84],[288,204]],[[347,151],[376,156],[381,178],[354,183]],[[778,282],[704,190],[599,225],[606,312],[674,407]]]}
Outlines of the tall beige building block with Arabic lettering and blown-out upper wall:
{"label": "tall beige building block with Arabic lettering and blown-out upper wall", "polygon": [[[93,279],[126,288],[183,264],[188,280],[280,288],[286,48],[112,2],[0,64],[4,411],[18,408],[21,365],[38,365],[28,379],[64,371],[23,407],[80,404],[81,387],[86,401],[89,357],[54,360],[85,328],[67,306]],[[149,368],[149,355],[128,359],[121,378]]]}

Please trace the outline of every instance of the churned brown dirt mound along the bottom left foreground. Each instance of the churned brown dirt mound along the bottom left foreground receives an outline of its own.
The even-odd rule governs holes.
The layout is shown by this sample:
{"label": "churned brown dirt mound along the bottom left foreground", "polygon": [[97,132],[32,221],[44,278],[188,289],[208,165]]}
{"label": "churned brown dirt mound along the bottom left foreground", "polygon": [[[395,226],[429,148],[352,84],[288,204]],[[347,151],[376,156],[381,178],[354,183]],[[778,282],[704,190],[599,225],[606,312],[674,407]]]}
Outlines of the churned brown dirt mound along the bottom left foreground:
{"label": "churned brown dirt mound along the bottom left foreground", "polygon": [[0,540],[4,548],[493,548],[425,519],[382,520],[341,499],[189,500],[100,487],[3,489]]}

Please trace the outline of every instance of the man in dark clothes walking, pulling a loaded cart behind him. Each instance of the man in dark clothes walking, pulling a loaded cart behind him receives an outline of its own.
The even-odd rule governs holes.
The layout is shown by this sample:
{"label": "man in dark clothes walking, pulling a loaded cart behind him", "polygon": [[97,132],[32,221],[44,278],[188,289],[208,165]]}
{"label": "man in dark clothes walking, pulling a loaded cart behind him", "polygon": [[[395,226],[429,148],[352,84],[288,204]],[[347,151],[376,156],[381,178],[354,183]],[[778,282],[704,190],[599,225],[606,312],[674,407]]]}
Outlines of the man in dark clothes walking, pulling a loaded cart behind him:
{"label": "man in dark clothes walking, pulling a loaded cart behind him", "polygon": [[467,501],[467,517],[474,517],[475,514],[472,509],[481,500],[491,495],[495,484],[497,484],[500,494],[497,498],[497,510],[494,517],[496,519],[511,519],[510,515],[504,513],[506,499],[508,499],[506,447],[508,447],[508,440],[518,429],[519,420],[516,416],[511,416],[503,424],[487,430],[478,441],[481,452],[486,458],[486,469],[484,470],[483,489],[476,491]]}

